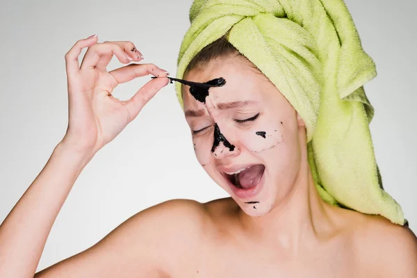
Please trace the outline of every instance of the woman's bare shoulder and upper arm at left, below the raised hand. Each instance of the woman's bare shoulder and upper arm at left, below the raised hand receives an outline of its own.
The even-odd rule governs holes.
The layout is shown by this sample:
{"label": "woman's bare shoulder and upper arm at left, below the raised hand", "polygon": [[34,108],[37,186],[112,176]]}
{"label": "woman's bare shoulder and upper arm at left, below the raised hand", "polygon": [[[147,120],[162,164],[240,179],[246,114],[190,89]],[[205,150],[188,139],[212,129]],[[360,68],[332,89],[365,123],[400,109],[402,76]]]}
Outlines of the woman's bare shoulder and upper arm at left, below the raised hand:
{"label": "woman's bare shoulder and upper arm at left, below the raised hand", "polygon": [[169,277],[203,236],[204,205],[172,199],[122,222],[97,244],[35,277]]}

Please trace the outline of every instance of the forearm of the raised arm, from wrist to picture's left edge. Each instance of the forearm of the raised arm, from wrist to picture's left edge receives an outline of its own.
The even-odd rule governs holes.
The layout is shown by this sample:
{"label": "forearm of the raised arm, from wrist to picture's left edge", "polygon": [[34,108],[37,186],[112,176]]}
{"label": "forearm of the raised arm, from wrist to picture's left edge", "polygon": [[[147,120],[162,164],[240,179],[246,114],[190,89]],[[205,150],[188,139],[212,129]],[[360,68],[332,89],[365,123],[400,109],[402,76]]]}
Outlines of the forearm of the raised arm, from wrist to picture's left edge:
{"label": "forearm of the raised arm, from wrist to picture's left edge", "polygon": [[55,147],[0,226],[0,277],[33,277],[52,224],[90,159],[63,144]]}

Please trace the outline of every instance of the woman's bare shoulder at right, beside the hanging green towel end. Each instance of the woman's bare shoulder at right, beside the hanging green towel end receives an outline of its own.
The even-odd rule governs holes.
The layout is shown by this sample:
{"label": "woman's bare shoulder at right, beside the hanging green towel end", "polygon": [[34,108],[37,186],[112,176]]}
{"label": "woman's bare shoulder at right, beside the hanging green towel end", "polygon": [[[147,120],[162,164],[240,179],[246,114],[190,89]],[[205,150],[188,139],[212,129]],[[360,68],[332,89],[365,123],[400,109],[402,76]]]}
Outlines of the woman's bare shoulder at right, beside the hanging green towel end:
{"label": "woman's bare shoulder at right, beside the hanging green towel end", "polygon": [[366,272],[375,277],[417,277],[417,238],[409,229],[379,215],[361,215],[354,248]]}

